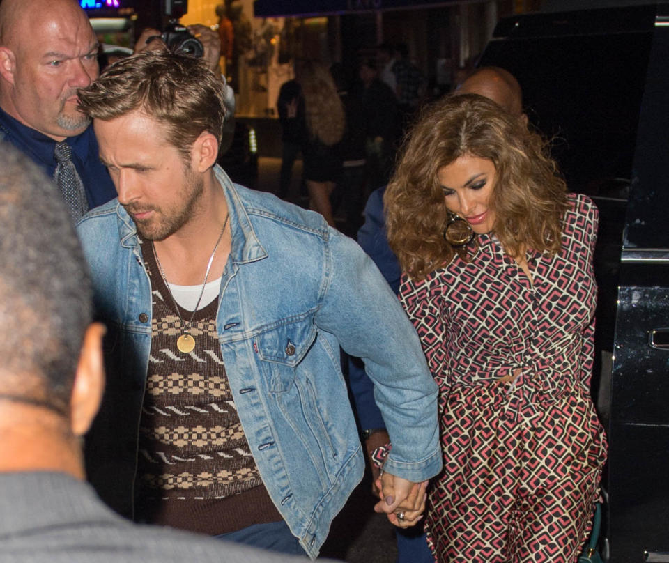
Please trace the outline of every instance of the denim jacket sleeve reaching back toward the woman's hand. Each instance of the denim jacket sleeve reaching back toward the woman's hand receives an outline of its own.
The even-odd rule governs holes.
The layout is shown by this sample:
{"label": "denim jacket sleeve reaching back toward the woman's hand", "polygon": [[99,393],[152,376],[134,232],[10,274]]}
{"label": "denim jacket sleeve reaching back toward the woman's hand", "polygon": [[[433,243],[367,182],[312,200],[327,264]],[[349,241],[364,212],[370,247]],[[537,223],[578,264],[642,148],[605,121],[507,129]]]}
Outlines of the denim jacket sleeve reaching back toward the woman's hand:
{"label": "denim jacket sleeve reaching back toward the woman's hand", "polygon": [[316,325],[344,351],[361,357],[392,440],[385,470],[423,481],[436,475],[439,447],[437,386],[420,341],[399,300],[369,256],[330,231],[325,284]]}

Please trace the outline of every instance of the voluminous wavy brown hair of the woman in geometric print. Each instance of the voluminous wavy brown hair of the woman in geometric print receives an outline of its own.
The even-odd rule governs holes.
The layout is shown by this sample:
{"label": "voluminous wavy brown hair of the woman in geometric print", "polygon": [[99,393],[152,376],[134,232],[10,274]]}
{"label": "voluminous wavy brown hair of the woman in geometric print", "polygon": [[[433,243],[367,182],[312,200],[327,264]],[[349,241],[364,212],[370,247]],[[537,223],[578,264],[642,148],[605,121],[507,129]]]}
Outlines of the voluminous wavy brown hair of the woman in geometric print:
{"label": "voluminous wavy brown hair of the woman in geometric print", "polygon": [[443,237],[449,215],[437,173],[463,155],[495,165],[489,206],[505,252],[559,252],[567,186],[548,142],[488,98],[454,94],[421,111],[385,192],[388,241],[402,269],[422,279],[455,254],[468,259],[476,251],[476,246],[455,248]]}

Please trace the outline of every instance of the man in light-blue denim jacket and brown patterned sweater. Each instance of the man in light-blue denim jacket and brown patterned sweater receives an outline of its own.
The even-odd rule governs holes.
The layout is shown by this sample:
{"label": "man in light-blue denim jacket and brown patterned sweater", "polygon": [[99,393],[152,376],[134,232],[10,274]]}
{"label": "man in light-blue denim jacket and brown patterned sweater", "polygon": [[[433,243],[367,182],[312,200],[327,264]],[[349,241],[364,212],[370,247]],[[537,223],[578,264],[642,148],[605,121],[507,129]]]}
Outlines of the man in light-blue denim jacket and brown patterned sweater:
{"label": "man in light-blue denim jacket and brown patterned sweater", "polygon": [[364,468],[341,346],[364,359],[393,442],[375,509],[415,524],[441,468],[437,390],[371,260],[215,166],[222,86],[198,61],[132,56],[79,97],[118,192],[78,226],[108,328],[86,447],[102,498],[316,557]]}

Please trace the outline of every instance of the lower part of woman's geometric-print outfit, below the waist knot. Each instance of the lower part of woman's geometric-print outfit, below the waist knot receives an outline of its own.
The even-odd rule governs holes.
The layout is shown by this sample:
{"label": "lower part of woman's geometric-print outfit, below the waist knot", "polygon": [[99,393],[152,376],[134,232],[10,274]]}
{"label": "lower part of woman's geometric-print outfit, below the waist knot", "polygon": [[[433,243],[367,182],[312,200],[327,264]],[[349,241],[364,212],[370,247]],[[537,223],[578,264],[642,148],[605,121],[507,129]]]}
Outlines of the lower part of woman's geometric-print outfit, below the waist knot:
{"label": "lower part of woman's geometric-print outfit, below the waist knot", "polygon": [[[590,531],[606,441],[590,396],[550,403],[535,425],[500,416],[497,385],[450,394],[445,466],[430,493],[426,528],[439,562],[573,563]],[[503,401],[503,398],[501,399]]]}

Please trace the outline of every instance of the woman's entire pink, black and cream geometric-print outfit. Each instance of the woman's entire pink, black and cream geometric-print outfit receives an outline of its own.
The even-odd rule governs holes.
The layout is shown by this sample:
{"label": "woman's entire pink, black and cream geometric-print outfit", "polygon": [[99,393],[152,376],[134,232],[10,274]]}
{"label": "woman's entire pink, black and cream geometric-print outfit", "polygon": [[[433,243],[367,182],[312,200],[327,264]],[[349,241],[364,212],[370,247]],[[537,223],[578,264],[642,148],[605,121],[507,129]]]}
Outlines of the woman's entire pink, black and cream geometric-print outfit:
{"label": "woman's entire pink, black and cream geometric-print outfit", "polygon": [[440,386],[444,470],[426,516],[438,562],[571,563],[589,532],[606,459],[589,392],[598,213],[569,203],[560,253],[526,254],[531,280],[484,235],[470,262],[401,286]]}

